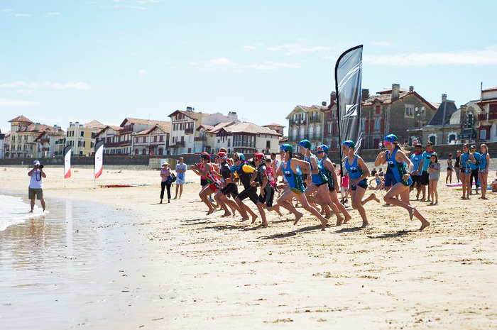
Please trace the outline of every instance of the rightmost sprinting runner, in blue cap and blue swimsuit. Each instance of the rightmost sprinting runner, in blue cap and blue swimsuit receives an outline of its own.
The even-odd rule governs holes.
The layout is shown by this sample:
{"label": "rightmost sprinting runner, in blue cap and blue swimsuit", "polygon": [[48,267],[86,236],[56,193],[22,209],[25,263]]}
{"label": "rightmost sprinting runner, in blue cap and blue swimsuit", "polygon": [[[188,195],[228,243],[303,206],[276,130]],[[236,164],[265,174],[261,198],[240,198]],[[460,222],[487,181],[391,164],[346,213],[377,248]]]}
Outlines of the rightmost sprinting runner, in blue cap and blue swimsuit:
{"label": "rightmost sprinting runner, in blue cap and blue swimsuit", "polygon": [[[380,164],[388,163],[388,166],[390,167],[390,164],[393,163],[394,166],[391,167],[391,170],[397,182],[388,190],[388,192],[386,192],[383,199],[388,204],[393,204],[408,210],[409,219],[413,219],[413,216],[419,219],[421,221],[420,231],[422,231],[427,226],[430,226],[430,222],[428,222],[417,209],[409,205],[409,187],[413,183],[409,173],[413,171],[414,165],[408,156],[400,150],[398,138],[394,134],[388,134],[383,140],[383,145],[385,145],[387,150],[378,154],[374,164],[378,166]],[[404,163],[408,165],[407,170]],[[395,198],[396,195],[400,195],[400,199]]]}

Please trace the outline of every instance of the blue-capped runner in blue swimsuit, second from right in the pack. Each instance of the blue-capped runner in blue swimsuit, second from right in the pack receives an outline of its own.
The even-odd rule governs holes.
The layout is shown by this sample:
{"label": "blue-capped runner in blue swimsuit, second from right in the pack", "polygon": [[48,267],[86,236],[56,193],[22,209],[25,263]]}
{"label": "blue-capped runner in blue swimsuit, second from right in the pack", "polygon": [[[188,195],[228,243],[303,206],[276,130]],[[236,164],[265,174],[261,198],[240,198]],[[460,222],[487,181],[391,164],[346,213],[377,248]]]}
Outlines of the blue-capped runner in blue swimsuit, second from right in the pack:
{"label": "blue-capped runner in blue swimsuit, second from right in the pack", "polygon": [[[351,189],[351,200],[352,200],[352,208],[359,211],[362,218],[362,228],[366,228],[369,226],[368,217],[366,216],[366,210],[364,209],[364,204],[371,200],[376,200],[376,202],[380,202],[378,198],[376,198],[376,194],[369,195],[368,198],[362,200],[364,197],[364,193],[368,188],[368,180],[369,170],[364,160],[359,155],[356,155],[356,143],[351,140],[347,140],[342,142],[342,152],[346,155],[345,158],[345,168],[349,173],[350,180],[350,189]],[[352,162],[352,163],[351,163]]]}

